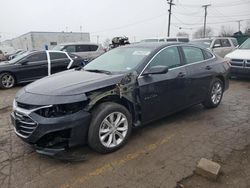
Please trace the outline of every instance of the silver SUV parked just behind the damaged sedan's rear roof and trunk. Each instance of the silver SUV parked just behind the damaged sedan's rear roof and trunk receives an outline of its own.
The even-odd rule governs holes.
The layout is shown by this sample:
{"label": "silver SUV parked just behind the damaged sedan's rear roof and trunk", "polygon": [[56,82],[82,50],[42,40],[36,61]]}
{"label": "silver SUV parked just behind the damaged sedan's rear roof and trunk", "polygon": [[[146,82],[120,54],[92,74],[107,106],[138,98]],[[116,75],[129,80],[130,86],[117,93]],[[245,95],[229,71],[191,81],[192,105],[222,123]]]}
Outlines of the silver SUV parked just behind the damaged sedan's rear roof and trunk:
{"label": "silver SUV parked just behind the damaged sedan's rear roof and trunk", "polygon": [[191,43],[210,49],[220,57],[225,57],[225,55],[234,51],[238,47],[238,42],[236,38],[233,37],[195,39],[192,40]]}

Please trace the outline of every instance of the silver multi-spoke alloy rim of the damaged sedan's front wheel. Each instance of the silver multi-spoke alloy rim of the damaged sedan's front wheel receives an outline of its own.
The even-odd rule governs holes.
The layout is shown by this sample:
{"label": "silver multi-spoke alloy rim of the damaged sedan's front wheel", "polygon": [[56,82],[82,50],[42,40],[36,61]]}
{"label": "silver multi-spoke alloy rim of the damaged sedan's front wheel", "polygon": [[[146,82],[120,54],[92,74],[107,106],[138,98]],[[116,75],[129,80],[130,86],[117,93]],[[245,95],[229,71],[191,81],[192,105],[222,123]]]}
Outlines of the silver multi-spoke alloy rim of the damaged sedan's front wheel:
{"label": "silver multi-spoke alloy rim of the damaged sedan's front wheel", "polygon": [[124,141],[127,133],[127,117],[121,112],[113,112],[102,121],[99,139],[103,146],[114,148]]}

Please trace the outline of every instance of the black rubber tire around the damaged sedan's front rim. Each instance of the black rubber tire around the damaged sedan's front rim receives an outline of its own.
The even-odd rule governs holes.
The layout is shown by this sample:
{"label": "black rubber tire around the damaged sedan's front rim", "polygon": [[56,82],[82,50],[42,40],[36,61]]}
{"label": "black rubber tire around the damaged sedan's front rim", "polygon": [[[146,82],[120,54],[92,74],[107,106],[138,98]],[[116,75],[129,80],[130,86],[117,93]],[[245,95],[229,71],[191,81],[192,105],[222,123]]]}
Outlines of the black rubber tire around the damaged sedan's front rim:
{"label": "black rubber tire around the damaged sedan's front rim", "polygon": [[[106,147],[101,142],[99,131],[102,126],[102,122],[105,120],[105,118],[107,118],[112,113],[122,113],[126,117],[127,133],[126,133],[126,136],[124,136],[124,139],[120,144],[114,147]],[[91,114],[92,114],[92,119],[91,119],[89,131],[88,131],[88,144],[93,150],[99,153],[111,153],[120,149],[122,146],[124,146],[124,144],[128,140],[128,137],[131,134],[131,129],[132,129],[132,117],[131,117],[130,112],[127,110],[127,108],[117,103],[105,102],[105,103],[98,105],[92,111]]]}

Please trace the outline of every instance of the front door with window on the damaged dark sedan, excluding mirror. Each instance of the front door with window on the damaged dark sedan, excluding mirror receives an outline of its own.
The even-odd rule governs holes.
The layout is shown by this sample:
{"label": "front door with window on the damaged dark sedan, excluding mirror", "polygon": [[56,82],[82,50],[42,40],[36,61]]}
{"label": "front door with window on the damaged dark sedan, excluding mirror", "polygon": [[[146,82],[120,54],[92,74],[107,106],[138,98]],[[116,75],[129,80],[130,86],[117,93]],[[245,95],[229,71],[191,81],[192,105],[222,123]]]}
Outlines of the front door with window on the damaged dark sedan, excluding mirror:
{"label": "front door with window on the damaged dark sedan, excluding mirror", "polygon": [[167,47],[153,57],[145,70],[157,65],[169,67],[166,74],[139,76],[139,92],[144,123],[178,111],[186,104],[186,69],[178,47]]}

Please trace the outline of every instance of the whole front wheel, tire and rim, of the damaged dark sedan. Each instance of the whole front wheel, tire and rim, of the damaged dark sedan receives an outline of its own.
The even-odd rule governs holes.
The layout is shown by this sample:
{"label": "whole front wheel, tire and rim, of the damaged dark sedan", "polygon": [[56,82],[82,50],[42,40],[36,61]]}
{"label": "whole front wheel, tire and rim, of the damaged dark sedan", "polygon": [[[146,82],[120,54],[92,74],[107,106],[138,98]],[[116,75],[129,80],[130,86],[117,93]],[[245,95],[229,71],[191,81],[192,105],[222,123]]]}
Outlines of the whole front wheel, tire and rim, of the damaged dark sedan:
{"label": "whole front wheel, tire and rim, of the damaged dark sedan", "polygon": [[127,142],[131,128],[131,114],[124,106],[102,103],[92,112],[88,144],[99,153],[114,152]]}

